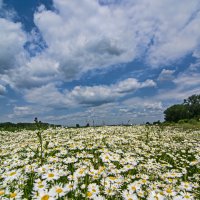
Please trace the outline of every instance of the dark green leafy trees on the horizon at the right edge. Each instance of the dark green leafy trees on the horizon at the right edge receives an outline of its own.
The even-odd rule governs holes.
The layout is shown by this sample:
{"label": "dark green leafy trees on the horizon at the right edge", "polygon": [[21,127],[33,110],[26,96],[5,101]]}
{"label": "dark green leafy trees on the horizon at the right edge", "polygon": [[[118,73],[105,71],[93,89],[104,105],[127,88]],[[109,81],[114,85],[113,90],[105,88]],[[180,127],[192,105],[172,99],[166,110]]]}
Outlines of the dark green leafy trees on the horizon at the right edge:
{"label": "dark green leafy trees on the horizon at the right edge", "polygon": [[[200,95],[192,95],[182,104],[175,104],[164,111],[166,122],[186,123],[188,120],[200,118]],[[195,123],[189,122],[189,123]]]}

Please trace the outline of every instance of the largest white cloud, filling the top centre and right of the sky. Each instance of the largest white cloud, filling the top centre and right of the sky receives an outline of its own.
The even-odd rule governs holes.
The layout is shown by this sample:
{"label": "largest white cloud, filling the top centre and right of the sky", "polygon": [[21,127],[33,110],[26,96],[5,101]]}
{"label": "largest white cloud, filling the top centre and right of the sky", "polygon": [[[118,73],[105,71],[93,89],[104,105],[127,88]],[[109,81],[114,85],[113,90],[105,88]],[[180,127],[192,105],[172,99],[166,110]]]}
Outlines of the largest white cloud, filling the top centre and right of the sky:
{"label": "largest white cloud, filling the top centre and right of the sky", "polygon": [[44,7],[35,13],[35,23],[48,45],[45,53],[59,64],[65,79],[130,62],[145,51],[153,67],[165,65],[200,44],[198,0],[109,5],[102,6],[97,0],[56,0],[57,13]]}

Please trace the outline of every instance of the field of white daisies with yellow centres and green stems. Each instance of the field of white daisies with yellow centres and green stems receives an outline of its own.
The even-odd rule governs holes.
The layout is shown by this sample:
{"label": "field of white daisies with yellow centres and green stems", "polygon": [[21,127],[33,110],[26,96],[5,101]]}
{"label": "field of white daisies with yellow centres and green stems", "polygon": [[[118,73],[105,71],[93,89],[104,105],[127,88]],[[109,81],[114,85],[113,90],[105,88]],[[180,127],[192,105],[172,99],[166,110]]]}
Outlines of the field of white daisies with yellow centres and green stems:
{"label": "field of white daisies with yellow centres and green stems", "polygon": [[0,199],[200,199],[200,131],[0,132]]}

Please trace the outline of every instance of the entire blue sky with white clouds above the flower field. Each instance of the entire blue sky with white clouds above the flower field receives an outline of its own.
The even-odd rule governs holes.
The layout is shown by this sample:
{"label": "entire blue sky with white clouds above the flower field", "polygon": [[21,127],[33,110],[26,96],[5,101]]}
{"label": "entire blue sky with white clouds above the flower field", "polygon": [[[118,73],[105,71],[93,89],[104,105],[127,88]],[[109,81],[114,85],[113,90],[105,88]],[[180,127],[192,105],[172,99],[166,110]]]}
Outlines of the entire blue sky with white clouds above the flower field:
{"label": "entire blue sky with white clouds above the flower field", "polygon": [[199,0],[0,0],[0,122],[162,121],[193,94]]}

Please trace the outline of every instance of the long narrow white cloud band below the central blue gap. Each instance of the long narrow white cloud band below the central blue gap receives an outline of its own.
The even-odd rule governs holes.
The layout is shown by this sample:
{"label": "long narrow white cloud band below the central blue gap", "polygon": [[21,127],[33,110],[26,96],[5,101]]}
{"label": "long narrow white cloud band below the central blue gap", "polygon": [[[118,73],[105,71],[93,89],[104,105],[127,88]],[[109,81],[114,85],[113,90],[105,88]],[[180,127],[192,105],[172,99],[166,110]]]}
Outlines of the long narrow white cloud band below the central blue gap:
{"label": "long narrow white cloud band below the central blue gap", "polygon": [[71,91],[59,91],[54,84],[48,84],[41,88],[27,90],[25,99],[31,103],[56,107],[77,106],[78,104],[95,106],[113,102],[137,89],[154,86],[156,83],[153,80],[139,82],[133,78],[109,86],[76,86]]}

